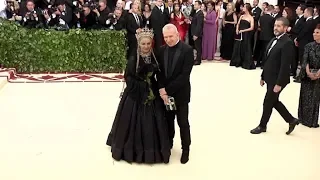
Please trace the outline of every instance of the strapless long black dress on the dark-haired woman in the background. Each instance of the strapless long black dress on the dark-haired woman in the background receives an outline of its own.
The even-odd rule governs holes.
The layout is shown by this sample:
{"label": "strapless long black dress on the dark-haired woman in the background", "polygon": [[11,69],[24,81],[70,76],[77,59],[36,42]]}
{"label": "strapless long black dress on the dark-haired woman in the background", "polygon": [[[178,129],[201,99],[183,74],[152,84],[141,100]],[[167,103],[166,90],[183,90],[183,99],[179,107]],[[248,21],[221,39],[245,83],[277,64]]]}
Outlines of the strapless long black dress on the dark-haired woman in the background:
{"label": "strapless long black dress on the dark-haired woman in the background", "polygon": [[[239,31],[250,28],[250,22],[244,19],[240,20]],[[242,35],[241,35],[242,34]],[[256,66],[252,59],[251,38],[253,31],[239,33],[236,35],[230,66],[242,67],[244,69],[255,69]]]}

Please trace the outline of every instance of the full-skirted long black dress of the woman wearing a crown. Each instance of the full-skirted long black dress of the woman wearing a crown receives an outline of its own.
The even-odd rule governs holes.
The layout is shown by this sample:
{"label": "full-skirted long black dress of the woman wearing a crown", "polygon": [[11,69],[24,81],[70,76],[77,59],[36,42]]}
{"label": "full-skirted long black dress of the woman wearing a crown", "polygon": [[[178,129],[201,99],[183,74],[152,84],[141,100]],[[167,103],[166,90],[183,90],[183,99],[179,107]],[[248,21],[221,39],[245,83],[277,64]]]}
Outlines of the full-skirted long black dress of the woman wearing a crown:
{"label": "full-skirted long black dress of the woman wearing a crown", "polygon": [[[167,163],[170,142],[164,119],[165,107],[155,75],[159,72],[154,56],[132,56],[128,60],[123,92],[107,145],[115,160],[129,163]],[[149,61],[149,62],[148,62]],[[151,62],[150,62],[151,61]],[[137,65],[138,64],[138,65]]]}

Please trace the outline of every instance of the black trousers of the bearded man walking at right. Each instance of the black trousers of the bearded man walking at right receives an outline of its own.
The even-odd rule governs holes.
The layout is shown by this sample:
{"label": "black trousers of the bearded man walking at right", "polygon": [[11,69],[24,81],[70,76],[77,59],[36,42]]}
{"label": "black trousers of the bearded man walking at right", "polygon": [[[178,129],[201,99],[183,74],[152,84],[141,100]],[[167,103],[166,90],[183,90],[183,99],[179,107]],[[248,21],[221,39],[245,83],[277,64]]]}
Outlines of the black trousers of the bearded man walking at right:
{"label": "black trousers of the bearded man walking at right", "polygon": [[267,93],[264,98],[263,113],[259,124],[259,126],[263,128],[267,127],[273,108],[275,108],[279,112],[279,114],[287,123],[291,123],[294,119],[287,108],[282,104],[282,102],[279,101],[279,95],[285,87],[282,87],[281,91],[278,93],[273,92],[273,88],[273,84],[267,84]]}

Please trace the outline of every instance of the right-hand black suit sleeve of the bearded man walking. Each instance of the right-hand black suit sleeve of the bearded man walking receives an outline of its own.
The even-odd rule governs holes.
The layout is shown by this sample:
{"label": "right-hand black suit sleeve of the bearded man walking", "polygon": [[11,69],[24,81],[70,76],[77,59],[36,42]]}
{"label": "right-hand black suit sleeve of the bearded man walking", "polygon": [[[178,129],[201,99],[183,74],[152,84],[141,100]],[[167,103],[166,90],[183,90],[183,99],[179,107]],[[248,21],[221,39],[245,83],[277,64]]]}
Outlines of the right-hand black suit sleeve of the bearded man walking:
{"label": "right-hand black suit sleeve of the bearded man walking", "polygon": [[290,77],[291,61],[294,58],[294,45],[292,41],[287,41],[281,50],[281,64],[276,84],[283,87],[286,85],[286,79]]}

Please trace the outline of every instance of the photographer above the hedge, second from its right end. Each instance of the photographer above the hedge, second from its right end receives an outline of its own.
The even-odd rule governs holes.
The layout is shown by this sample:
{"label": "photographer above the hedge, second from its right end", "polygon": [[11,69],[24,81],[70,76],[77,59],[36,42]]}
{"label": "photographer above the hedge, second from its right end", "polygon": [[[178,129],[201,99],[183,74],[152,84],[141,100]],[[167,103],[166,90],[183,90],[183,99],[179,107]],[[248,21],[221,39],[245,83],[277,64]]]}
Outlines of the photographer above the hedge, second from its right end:
{"label": "photographer above the hedge, second from its right end", "polygon": [[109,7],[107,6],[106,0],[100,0],[99,5],[97,8],[92,10],[94,13],[96,13],[98,17],[98,25],[100,28],[109,28],[107,25],[107,20],[109,18],[109,14],[111,13]]}

